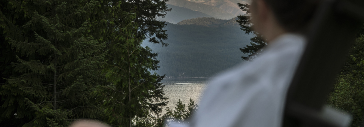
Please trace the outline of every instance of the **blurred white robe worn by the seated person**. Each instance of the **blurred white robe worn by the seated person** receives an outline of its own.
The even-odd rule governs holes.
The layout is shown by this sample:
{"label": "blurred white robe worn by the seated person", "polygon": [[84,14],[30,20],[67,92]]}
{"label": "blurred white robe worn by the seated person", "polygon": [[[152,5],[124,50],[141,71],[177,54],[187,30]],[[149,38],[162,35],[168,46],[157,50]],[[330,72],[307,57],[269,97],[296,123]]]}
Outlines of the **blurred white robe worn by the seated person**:
{"label": "blurred white robe worn by the seated person", "polygon": [[305,44],[298,34],[277,37],[254,61],[209,84],[193,124],[170,127],[281,127],[286,93]]}

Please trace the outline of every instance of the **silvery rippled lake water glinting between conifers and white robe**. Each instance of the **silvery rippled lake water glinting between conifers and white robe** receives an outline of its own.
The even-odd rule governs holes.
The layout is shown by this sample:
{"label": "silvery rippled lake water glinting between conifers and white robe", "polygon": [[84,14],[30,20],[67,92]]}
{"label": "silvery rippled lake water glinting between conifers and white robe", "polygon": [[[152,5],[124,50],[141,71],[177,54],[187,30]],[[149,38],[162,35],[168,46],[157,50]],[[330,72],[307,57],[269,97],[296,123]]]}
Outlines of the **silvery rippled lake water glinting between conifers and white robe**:
{"label": "silvery rippled lake water glinting between conifers and white robe", "polygon": [[[198,104],[203,91],[206,89],[206,86],[210,81],[211,79],[207,78],[177,78],[163,80],[163,85],[166,85],[164,87],[165,97],[169,98],[169,103],[166,107],[174,109],[178,99],[181,99],[182,103],[186,105],[186,110],[190,98]],[[162,114],[165,114],[164,108]]]}

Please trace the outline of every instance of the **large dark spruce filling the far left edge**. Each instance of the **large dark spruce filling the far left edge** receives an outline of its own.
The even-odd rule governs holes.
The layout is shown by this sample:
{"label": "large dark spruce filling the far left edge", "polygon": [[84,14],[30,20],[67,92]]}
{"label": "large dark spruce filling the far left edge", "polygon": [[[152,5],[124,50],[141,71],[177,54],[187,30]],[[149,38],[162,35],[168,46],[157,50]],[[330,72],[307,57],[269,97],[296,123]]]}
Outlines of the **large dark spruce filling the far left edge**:
{"label": "large dark spruce filling the far left edge", "polygon": [[[94,0],[0,2],[0,124],[61,127],[101,119],[91,96],[105,44],[92,37]],[[13,69],[10,71],[9,69]]]}

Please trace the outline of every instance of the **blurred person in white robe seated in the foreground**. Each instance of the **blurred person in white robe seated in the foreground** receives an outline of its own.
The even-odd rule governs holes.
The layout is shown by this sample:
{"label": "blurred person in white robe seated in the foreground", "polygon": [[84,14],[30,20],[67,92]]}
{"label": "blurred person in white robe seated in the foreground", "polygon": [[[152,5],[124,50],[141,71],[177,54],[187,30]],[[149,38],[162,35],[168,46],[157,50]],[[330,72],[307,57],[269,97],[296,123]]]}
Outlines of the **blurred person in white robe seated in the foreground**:
{"label": "blurred person in white robe seated in the foreground", "polygon": [[253,0],[254,30],[265,52],[237,66],[206,89],[189,124],[171,127],[281,127],[286,93],[304,52],[302,36],[317,0]]}

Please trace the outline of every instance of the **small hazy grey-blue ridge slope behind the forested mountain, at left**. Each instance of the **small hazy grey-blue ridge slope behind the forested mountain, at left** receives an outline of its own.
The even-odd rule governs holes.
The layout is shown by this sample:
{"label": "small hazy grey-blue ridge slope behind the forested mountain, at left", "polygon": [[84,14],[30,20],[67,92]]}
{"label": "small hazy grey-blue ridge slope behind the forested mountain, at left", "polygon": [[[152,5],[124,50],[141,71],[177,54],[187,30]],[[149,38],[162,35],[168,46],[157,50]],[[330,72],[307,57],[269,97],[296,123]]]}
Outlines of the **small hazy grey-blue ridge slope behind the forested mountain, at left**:
{"label": "small hazy grey-blue ridge slope behind the forested mountain, at left", "polygon": [[205,13],[199,11],[193,11],[191,9],[178,7],[171,4],[166,4],[168,8],[171,8],[172,11],[168,12],[166,17],[158,17],[157,20],[159,21],[167,21],[173,24],[177,24],[178,22],[186,19],[193,19],[197,17],[211,17]]}

